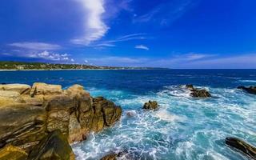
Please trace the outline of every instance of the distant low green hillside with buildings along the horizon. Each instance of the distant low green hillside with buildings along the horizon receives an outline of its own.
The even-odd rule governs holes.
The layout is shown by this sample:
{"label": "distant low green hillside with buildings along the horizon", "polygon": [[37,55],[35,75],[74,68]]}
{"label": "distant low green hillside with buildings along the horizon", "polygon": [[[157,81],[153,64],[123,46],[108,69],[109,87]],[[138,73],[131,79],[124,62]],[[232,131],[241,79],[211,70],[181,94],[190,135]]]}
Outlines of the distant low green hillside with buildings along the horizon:
{"label": "distant low green hillside with buildings along the horizon", "polygon": [[53,64],[43,62],[0,62],[0,70],[158,70],[152,67],[90,66],[79,64]]}

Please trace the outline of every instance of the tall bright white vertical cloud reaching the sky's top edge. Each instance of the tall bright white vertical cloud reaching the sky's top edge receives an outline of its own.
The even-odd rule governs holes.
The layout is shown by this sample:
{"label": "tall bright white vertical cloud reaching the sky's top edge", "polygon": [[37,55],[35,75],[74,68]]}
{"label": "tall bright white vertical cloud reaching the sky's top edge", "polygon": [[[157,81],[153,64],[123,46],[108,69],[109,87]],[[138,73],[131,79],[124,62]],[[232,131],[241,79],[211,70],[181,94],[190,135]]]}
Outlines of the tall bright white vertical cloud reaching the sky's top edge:
{"label": "tall bright white vertical cloud reaching the sky's top edge", "polygon": [[102,38],[109,27],[102,21],[102,14],[105,13],[104,0],[76,0],[80,2],[85,13],[85,28],[82,37],[71,40],[74,44],[89,45]]}

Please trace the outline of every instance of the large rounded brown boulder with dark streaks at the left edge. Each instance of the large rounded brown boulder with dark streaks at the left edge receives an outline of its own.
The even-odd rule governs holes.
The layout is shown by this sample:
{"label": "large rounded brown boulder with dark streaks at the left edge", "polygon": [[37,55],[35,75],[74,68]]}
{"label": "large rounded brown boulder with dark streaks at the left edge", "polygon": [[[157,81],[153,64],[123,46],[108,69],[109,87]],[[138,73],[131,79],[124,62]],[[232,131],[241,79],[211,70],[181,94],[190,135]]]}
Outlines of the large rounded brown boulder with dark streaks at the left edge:
{"label": "large rounded brown boulder with dark streaks at the left edge", "polygon": [[0,148],[12,144],[29,150],[46,134],[46,110],[39,106],[1,106],[0,122]]}

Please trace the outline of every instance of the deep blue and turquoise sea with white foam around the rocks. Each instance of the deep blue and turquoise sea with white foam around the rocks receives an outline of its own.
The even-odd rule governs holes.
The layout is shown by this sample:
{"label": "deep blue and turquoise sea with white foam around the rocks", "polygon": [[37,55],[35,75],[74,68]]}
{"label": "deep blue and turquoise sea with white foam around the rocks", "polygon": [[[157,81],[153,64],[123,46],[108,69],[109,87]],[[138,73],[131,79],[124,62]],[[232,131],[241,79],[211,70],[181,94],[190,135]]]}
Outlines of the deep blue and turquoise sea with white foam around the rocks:
{"label": "deep blue and turquoise sea with white foam around the rocks", "polygon": [[[256,146],[256,95],[236,89],[256,86],[256,70],[10,71],[0,72],[0,82],[81,84],[122,106],[114,127],[72,146],[77,159],[121,150],[132,159],[238,160],[247,157],[226,146],[226,137]],[[190,98],[186,84],[210,90],[213,98]],[[149,100],[160,109],[142,110]]]}

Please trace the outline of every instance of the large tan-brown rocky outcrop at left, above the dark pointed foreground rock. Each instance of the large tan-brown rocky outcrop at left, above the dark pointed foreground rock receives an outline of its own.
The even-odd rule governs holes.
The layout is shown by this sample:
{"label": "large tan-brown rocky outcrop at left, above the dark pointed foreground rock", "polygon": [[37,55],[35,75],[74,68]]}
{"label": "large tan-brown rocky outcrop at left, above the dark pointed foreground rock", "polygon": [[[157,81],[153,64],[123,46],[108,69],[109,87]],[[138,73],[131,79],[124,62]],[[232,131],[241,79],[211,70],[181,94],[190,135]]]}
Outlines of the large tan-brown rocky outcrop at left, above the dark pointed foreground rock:
{"label": "large tan-brown rocky outcrop at left, above the dark pointed foreground rock", "polygon": [[120,106],[92,98],[80,85],[67,90],[46,83],[10,86],[2,85],[0,90],[0,148],[13,145],[29,152],[54,130],[60,130],[68,142],[78,142],[121,118]]}

